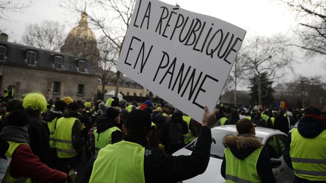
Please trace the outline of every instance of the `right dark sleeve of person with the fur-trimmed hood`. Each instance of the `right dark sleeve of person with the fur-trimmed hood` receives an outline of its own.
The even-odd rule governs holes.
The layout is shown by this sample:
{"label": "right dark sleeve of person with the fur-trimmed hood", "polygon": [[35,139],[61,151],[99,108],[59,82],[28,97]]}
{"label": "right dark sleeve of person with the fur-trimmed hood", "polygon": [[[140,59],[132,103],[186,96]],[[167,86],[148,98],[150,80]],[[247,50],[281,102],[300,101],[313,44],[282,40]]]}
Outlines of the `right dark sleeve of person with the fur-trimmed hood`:
{"label": "right dark sleeve of person with the fur-trimmed hood", "polygon": [[256,165],[257,173],[261,182],[275,183],[275,177],[271,168],[270,155],[267,148],[263,147],[258,157]]}

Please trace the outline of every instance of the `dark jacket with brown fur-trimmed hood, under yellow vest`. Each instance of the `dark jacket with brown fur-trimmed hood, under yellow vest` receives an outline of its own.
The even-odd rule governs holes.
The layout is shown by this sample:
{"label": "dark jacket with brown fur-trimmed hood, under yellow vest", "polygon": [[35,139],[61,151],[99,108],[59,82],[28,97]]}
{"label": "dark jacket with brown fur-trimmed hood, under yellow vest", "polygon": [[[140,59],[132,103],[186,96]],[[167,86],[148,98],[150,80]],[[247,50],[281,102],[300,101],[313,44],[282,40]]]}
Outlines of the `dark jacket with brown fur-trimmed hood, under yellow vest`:
{"label": "dark jacket with brown fur-trimmed hood, under yellow vest", "polygon": [[[253,153],[253,151],[262,146],[260,140],[251,134],[228,135],[223,139],[223,143],[225,147],[230,147],[233,156],[240,160],[246,159]],[[261,182],[276,182],[273,171],[271,169],[269,151],[265,147],[263,147],[258,157],[256,170],[261,179]],[[224,178],[225,173],[226,159],[224,156],[221,165],[221,175]]]}

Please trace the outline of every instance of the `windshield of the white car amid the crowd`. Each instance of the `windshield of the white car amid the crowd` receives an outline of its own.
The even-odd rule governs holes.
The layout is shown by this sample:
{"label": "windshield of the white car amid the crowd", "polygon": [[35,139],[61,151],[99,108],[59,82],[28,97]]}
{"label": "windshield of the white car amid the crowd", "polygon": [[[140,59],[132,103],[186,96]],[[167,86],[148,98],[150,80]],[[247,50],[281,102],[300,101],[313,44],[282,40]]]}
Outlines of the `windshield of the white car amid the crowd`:
{"label": "windshield of the white car amid the crowd", "polygon": [[[226,131],[226,130],[212,130],[212,138],[215,140],[216,143],[214,143],[214,141],[212,142],[211,148],[210,148],[210,156],[214,157],[214,158],[219,158],[219,159],[223,159],[224,156],[224,145],[223,145],[223,138],[226,135],[236,135],[236,132],[230,132],[230,131]],[[261,137],[257,137],[260,141],[262,141],[263,139]],[[188,146],[186,146],[186,149],[189,150],[194,150],[195,146],[196,146],[196,142],[197,139],[195,141],[193,141],[191,144],[189,144]]]}

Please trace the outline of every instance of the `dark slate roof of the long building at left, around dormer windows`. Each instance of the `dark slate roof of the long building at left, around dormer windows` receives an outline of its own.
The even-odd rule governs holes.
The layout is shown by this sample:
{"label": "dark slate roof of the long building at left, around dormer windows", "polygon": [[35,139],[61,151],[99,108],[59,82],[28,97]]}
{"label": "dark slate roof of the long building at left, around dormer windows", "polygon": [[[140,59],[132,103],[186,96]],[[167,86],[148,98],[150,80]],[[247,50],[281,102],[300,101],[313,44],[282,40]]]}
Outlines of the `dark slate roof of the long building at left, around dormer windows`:
{"label": "dark slate roof of the long building at left, around dormer windows", "polygon": [[[13,65],[21,65],[26,67],[37,67],[37,68],[44,68],[50,69],[53,71],[68,71],[73,73],[79,74],[91,74],[91,75],[98,75],[96,70],[93,68],[89,60],[81,57],[71,56],[67,53],[56,52],[56,51],[49,51],[44,49],[39,49],[31,46],[25,46],[16,43],[10,43],[6,41],[0,41],[0,46],[6,47],[6,58],[4,63],[13,64]],[[36,66],[29,66],[26,63],[26,57],[28,51],[36,52]],[[55,69],[54,67],[54,58],[55,56],[62,56],[63,57],[63,67],[62,69]],[[78,61],[84,60],[86,62],[86,72],[79,72],[78,71]],[[0,62],[3,63],[3,62]]]}

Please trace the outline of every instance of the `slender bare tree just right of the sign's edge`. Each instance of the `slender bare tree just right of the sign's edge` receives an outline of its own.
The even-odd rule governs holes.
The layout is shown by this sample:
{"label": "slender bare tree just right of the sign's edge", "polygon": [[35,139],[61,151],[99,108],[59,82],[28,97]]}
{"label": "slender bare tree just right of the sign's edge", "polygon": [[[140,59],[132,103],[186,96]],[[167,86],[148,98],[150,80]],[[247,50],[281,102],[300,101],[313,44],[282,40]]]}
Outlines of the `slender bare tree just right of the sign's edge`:
{"label": "slender bare tree just right of the sign's edge", "polygon": [[244,58],[241,54],[238,54],[236,59],[234,60],[234,64],[232,70],[230,72],[228,80],[234,85],[233,88],[233,102],[234,105],[237,105],[237,85],[239,85],[240,81],[244,78],[244,72],[246,71],[246,66],[244,62]]}

